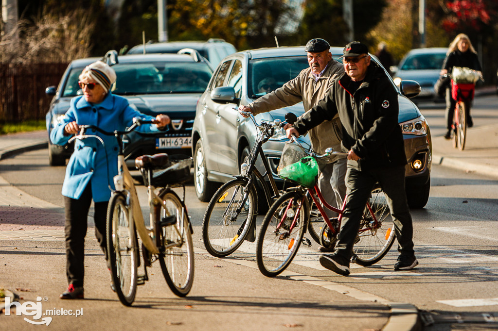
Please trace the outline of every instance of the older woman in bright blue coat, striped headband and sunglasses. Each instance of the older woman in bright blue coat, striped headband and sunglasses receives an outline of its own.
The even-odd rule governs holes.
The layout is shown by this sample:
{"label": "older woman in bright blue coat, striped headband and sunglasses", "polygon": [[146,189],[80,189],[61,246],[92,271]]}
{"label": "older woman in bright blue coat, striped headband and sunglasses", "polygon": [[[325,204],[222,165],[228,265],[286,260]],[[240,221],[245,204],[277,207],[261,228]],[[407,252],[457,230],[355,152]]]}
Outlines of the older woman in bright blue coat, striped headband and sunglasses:
{"label": "older woman in bright blue coat, striped headband and sunglasses", "polygon": [[[110,88],[116,82],[116,73],[104,62],[97,61],[81,73],[83,95],[71,100],[62,123],[50,133],[56,145],[65,145],[80,125],[95,125],[105,131],[124,130],[134,117],[154,119],[131,108],[126,98],[114,95]],[[167,115],[157,115],[155,125],[142,125],[142,132],[154,132],[170,123]],[[106,216],[111,197],[109,184],[118,173],[118,142],[114,136],[89,132],[102,138],[105,147],[96,139],[76,140],[74,153],[66,167],[62,184],[65,205],[66,275],[69,287],[61,299],[83,299],[84,241],[87,233],[88,211],[94,201],[95,235],[106,253]],[[106,157],[107,155],[107,157]],[[106,259],[107,259],[107,253]]]}

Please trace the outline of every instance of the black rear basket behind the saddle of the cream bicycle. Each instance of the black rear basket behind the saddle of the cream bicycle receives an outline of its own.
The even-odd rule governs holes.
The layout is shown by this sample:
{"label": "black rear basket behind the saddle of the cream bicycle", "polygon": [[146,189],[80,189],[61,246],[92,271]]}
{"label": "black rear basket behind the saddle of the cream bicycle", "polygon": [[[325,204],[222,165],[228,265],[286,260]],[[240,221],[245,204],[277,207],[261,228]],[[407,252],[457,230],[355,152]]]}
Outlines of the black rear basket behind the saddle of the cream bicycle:
{"label": "black rear basket behind the saddle of the cream bicycle", "polygon": [[[186,155],[170,155],[166,168],[152,170],[151,185],[165,187],[167,185],[182,184],[190,179],[190,167],[192,158]],[[149,171],[141,170],[143,183],[148,184]]]}

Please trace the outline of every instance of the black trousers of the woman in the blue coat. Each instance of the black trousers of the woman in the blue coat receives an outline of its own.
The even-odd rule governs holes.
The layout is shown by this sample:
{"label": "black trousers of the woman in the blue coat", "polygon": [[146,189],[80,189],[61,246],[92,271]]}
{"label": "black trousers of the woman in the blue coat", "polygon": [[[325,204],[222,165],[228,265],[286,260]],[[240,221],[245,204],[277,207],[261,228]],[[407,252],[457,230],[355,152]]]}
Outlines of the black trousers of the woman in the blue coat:
{"label": "black trousers of the woman in the blue coat", "polygon": [[[66,208],[66,275],[68,284],[75,287],[83,286],[85,275],[85,236],[87,234],[87,219],[90,204],[92,203],[92,188],[89,183],[79,199],[64,197]],[[104,252],[107,260],[106,243],[106,202],[96,202],[94,204],[95,236]]]}

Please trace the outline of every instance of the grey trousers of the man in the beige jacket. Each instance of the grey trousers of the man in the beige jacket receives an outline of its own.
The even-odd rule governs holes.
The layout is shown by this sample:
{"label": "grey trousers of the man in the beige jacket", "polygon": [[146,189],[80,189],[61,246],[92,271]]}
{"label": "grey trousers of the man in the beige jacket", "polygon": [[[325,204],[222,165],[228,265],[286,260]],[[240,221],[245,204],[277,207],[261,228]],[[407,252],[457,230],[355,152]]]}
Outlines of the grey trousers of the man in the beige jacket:
{"label": "grey trousers of the man in the beige jacket", "polygon": [[[332,206],[341,209],[344,197],[346,196],[346,177],[348,160],[339,159],[334,163],[329,163],[320,169],[318,177],[318,187],[323,197]],[[323,205],[322,205],[323,206]],[[325,213],[329,218],[339,216],[338,213],[325,208]]]}

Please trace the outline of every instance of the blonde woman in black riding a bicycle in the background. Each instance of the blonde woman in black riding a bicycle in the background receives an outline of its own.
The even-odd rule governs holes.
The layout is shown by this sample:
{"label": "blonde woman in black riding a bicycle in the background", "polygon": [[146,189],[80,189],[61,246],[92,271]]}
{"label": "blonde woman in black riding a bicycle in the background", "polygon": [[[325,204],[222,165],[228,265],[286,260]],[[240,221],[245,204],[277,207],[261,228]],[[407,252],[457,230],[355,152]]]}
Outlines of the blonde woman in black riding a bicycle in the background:
{"label": "blonde woman in black riding a bicycle in the background", "polygon": [[[479,59],[477,57],[477,52],[472,46],[469,37],[460,33],[456,38],[451,42],[450,47],[448,48],[448,53],[446,53],[446,58],[443,62],[443,69],[441,69],[440,75],[451,74],[453,67],[467,67],[478,71],[480,75],[482,75],[481,64],[479,63]],[[451,96],[451,85],[446,88],[446,134],[444,135],[445,139],[451,139],[451,132],[453,125],[453,112],[455,109],[456,100]],[[474,125],[472,121],[472,117],[470,116],[470,104],[465,108],[467,110],[467,126],[471,128]]]}

